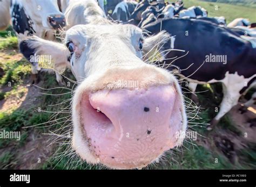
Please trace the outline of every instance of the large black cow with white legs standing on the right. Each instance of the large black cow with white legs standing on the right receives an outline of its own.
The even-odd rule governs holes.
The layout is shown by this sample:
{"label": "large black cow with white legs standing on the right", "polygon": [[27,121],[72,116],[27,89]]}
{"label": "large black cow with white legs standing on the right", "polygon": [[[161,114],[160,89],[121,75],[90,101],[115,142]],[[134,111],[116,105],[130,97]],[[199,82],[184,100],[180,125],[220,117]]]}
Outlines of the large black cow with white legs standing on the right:
{"label": "large black cow with white legs standing on the right", "polygon": [[228,28],[198,19],[164,19],[143,29],[151,34],[165,30],[176,36],[174,49],[179,50],[171,51],[159,63],[169,70],[178,67],[180,75],[191,81],[193,92],[197,83],[222,83],[224,97],[208,130],[238,103],[241,93],[255,80],[256,48]]}

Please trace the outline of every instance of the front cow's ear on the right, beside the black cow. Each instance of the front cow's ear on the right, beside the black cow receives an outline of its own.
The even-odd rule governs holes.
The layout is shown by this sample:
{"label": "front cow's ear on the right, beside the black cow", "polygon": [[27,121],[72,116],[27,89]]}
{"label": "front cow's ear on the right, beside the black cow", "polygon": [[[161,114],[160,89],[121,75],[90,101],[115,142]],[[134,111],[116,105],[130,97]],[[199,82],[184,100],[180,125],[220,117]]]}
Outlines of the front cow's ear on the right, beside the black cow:
{"label": "front cow's ear on the right, beside the black cow", "polygon": [[[142,48],[145,59],[155,59],[156,55],[159,59],[164,56],[163,51],[165,51],[165,44],[170,44],[171,36],[166,31],[161,31],[156,35],[147,37],[144,39],[144,45]],[[152,56],[154,55],[154,56]]]}

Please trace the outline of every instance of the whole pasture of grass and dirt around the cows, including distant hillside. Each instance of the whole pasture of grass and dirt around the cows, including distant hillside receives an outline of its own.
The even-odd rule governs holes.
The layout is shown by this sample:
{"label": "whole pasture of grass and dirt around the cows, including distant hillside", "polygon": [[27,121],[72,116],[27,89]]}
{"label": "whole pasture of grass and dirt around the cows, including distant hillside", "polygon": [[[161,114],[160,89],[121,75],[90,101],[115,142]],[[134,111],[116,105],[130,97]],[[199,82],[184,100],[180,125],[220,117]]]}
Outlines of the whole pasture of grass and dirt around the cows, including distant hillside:
{"label": "whole pasture of grass and dirt around the cows, including distant hillside", "polygon": [[[201,5],[209,16],[238,17],[256,22],[256,9],[223,3],[185,0],[185,6]],[[215,11],[214,6],[219,10]],[[69,151],[71,128],[69,99],[76,82],[70,71],[64,75],[67,86],[59,88],[54,74],[40,74],[41,82],[31,85],[30,64],[18,52],[17,38],[11,27],[0,32],[0,131],[20,131],[21,139],[0,139],[0,169],[100,169],[90,166]],[[190,102],[190,94],[184,94]],[[206,124],[216,114],[221,102],[221,85],[199,85],[200,113],[190,129],[197,140],[166,154],[152,169],[256,169],[256,106],[240,114],[235,106],[213,131]],[[250,98],[249,91],[240,102]],[[56,113],[57,112],[57,113]],[[48,122],[50,121],[50,122]],[[63,138],[56,134],[64,133]],[[62,144],[59,147],[59,144]]]}

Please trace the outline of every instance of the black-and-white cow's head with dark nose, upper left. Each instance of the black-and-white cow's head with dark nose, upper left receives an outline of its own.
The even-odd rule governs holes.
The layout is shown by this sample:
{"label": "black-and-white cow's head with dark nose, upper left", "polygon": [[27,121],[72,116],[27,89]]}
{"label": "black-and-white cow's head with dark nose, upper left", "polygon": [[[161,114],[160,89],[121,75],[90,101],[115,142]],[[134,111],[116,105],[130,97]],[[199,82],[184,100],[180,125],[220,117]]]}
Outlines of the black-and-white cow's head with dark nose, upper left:
{"label": "black-and-white cow's head with dark nose, upper left", "polygon": [[46,30],[57,30],[66,25],[65,17],[59,11],[56,0],[12,0],[11,16],[13,21],[20,18],[19,21],[39,24]]}

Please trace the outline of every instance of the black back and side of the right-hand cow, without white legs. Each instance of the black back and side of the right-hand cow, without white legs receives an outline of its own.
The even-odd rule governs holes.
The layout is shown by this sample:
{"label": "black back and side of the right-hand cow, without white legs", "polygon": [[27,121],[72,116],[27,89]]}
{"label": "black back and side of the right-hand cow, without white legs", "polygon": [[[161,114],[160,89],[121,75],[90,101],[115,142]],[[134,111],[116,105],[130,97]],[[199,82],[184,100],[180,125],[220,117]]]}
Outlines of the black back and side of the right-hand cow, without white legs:
{"label": "black back and side of the right-hand cow, without white legs", "polygon": [[[256,73],[256,49],[252,48],[250,42],[224,27],[195,19],[166,19],[162,24],[159,22],[146,26],[145,30],[158,33],[160,28],[176,36],[174,49],[185,51],[171,51],[166,57],[170,59],[183,56],[175,61],[167,60],[167,64],[173,61],[172,65],[178,66],[185,76],[196,72],[191,76],[192,79],[207,82],[222,80],[227,71],[237,71],[245,77]],[[207,55],[226,55],[227,63],[205,62]]]}

